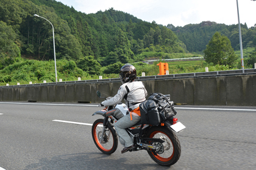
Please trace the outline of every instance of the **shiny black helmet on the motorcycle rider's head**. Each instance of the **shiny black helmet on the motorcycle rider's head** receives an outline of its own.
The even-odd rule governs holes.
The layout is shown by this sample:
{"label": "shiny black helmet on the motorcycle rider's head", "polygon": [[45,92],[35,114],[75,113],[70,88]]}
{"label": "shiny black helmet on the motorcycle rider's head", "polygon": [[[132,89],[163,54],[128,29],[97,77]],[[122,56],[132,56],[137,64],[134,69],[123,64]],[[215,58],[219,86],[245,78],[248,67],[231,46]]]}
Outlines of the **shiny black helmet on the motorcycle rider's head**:
{"label": "shiny black helmet on the motorcycle rider's head", "polygon": [[123,84],[135,80],[137,77],[135,67],[130,64],[124,65],[119,71],[119,77]]}

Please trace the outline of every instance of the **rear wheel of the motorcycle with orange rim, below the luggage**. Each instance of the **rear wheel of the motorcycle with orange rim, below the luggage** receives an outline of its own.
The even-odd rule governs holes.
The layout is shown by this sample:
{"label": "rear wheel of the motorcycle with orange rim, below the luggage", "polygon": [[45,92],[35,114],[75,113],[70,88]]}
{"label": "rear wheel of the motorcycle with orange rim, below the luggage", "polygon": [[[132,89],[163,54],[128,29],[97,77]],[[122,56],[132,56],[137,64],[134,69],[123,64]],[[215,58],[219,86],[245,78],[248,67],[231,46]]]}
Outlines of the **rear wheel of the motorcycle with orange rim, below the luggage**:
{"label": "rear wheel of the motorcycle with orange rim, below the luggage", "polygon": [[180,141],[173,131],[168,127],[152,127],[147,133],[149,138],[159,138],[165,142],[154,142],[157,146],[155,151],[148,151],[148,154],[159,165],[171,166],[180,158]]}

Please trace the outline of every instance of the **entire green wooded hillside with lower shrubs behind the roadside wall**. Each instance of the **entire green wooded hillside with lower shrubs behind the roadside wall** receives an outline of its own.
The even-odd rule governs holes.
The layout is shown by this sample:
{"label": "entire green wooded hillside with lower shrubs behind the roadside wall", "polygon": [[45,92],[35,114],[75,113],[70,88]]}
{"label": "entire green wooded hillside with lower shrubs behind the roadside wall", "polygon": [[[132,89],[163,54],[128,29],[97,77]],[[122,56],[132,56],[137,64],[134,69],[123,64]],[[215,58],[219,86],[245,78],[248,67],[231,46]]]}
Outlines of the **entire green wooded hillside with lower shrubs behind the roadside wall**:
{"label": "entire green wooded hillside with lower shrubs behind the roadside wall", "polygon": [[[113,73],[123,64],[150,58],[190,57],[189,52],[202,52],[216,31],[239,49],[238,25],[207,21],[165,27],[113,8],[85,14],[55,0],[1,0],[0,84],[55,81],[52,25],[35,14],[54,26],[57,74],[63,81],[116,77]],[[255,51],[255,31],[242,25],[243,47],[253,47],[249,54]],[[157,74],[156,64],[138,63],[138,72]],[[181,65],[175,68],[173,73],[188,71]]]}

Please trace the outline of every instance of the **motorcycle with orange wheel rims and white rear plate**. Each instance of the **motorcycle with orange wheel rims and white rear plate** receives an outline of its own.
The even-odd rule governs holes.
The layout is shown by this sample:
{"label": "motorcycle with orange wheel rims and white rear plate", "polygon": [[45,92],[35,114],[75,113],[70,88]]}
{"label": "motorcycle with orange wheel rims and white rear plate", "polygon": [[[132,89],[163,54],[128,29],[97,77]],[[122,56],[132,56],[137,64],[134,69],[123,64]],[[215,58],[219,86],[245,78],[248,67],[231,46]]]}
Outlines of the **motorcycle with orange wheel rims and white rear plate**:
{"label": "motorcycle with orange wheel rims and white rear plate", "polygon": [[[101,92],[97,91],[99,98]],[[108,98],[105,98],[105,100]],[[100,106],[100,105],[99,105]],[[118,135],[114,124],[124,115],[129,113],[126,104],[119,103],[116,106],[108,106],[93,114],[102,115],[94,121],[91,134],[97,148],[104,154],[113,154],[118,147]],[[171,166],[176,163],[181,154],[180,141],[175,132],[180,132],[185,126],[177,122],[177,118],[171,117],[158,126],[142,124],[140,121],[132,127],[126,129],[136,146],[132,151],[148,151],[149,156],[159,165]],[[124,146],[124,141],[119,138],[119,142]]]}

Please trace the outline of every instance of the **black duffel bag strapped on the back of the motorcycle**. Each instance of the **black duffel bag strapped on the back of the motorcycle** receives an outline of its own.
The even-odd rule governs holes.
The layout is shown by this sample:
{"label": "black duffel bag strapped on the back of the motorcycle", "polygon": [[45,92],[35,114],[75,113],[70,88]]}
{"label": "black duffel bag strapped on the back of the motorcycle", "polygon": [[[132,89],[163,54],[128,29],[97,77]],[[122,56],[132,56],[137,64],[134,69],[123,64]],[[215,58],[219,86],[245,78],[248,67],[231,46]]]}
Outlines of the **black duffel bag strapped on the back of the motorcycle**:
{"label": "black duffel bag strapped on the back of the motorcycle", "polygon": [[148,100],[140,104],[141,121],[143,124],[158,126],[164,120],[177,114],[170,95],[151,94]]}

